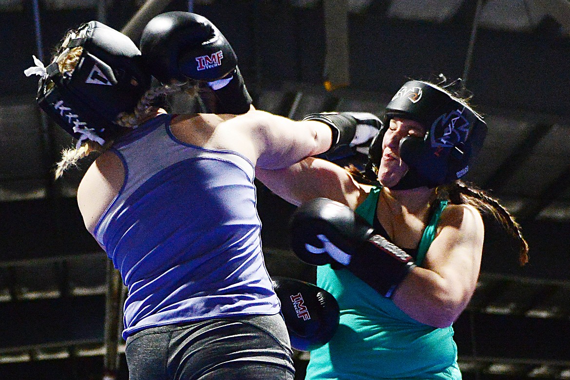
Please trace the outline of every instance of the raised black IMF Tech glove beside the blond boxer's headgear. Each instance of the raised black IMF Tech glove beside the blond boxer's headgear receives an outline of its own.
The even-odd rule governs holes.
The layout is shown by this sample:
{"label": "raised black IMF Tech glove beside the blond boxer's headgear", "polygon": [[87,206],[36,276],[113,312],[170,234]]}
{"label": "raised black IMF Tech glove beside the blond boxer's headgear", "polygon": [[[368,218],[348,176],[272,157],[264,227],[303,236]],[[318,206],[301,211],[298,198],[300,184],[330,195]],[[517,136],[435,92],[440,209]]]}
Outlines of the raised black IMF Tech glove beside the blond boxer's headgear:
{"label": "raised black IMF Tech glove beside the blond boxer's headgear", "polygon": [[237,56],[205,17],[181,11],[154,17],[143,30],[140,50],[150,74],[160,82],[202,80],[214,90],[215,112],[249,111],[251,96],[237,67]]}

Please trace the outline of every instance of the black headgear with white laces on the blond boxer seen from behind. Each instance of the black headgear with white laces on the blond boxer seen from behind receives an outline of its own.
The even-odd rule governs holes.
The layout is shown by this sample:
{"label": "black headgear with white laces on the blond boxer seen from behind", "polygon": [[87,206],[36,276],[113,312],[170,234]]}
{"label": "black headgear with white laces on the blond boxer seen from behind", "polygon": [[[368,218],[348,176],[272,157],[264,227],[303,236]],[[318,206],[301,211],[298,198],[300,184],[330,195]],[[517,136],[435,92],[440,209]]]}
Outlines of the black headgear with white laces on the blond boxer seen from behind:
{"label": "black headgear with white laces on the blond boxer seen from behind", "polygon": [[[79,140],[103,144],[125,131],[113,123],[121,112],[133,112],[150,87],[141,53],[126,35],[97,21],[70,34],[59,56],[83,47],[75,69],[60,72],[57,58],[31,74],[40,74],[37,102],[52,120]],[[31,75],[26,72],[26,75]],[[52,83],[52,84],[51,84]]]}

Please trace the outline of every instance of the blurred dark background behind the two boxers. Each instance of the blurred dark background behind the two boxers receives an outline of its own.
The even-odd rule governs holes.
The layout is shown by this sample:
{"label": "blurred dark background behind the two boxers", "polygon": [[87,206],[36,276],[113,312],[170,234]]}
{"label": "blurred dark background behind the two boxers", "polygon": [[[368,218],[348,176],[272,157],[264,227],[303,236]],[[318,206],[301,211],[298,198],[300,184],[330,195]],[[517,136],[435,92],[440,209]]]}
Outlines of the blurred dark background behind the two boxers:
{"label": "blurred dark background behind the two boxers", "polygon": [[[151,3],[214,22],[237,52],[255,106],[292,119],[381,115],[409,78],[462,77],[489,126],[467,179],[517,217],[531,256],[520,268],[487,225],[478,289],[454,326],[463,377],[570,379],[569,1]],[[121,30],[143,5],[0,0],[0,379],[103,377],[107,257],[75,199],[92,159],[52,180],[59,152],[73,142],[40,115],[36,77],[23,70],[32,54],[47,63],[67,29],[97,19]],[[269,272],[314,281],[314,268],[288,247],[294,207],[258,184],[258,208]],[[122,349],[119,342],[116,376],[127,379]],[[299,379],[307,359],[296,353]]]}

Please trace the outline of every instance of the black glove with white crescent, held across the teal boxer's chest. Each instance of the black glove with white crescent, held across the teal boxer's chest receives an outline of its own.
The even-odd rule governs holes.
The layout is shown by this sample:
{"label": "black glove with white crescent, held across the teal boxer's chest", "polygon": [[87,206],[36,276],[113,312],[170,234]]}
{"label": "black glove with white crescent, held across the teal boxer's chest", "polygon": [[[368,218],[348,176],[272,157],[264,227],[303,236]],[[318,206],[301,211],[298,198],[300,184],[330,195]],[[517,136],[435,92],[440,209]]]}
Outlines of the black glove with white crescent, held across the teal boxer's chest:
{"label": "black glove with white crescent, held across the teal boxer's chest", "polygon": [[340,264],[388,298],[416,266],[412,256],[374,233],[352,209],[327,198],[295,210],[291,236],[293,252],[307,264]]}

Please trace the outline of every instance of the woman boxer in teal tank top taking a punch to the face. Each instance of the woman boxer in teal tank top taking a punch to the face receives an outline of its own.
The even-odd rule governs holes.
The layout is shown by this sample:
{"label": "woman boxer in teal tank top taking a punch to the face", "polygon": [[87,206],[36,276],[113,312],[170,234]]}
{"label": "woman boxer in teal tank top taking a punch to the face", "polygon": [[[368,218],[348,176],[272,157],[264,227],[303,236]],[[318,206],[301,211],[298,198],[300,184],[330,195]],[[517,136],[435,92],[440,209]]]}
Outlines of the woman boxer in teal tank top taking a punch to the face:
{"label": "woman boxer in teal tank top taking a punch to the face", "polygon": [[[345,112],[307,120],[345,123]],[[473,296],[482,213],[520,246],[519,226],[496,200],[459,180],[486,125],[463,100],[410,81],[386,107],[370,145],[368,183],[328,161],[258,169],[272,191],[300,205],[292,248],[317,267],[317,286],[340,306],[340,326],[311,351],[307,379],[461,379],[451,325]],[[353,123],[380,120],[353,119]]]}

